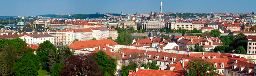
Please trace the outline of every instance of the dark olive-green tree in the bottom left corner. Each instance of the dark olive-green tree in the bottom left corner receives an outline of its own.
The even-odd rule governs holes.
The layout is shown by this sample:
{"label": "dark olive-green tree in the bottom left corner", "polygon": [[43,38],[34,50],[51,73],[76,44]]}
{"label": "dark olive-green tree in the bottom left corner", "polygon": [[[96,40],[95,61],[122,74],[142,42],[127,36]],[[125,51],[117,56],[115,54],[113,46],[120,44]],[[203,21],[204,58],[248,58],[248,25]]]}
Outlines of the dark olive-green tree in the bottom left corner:
{"label": "dark olive-green tree in the bottom left corner", "polygon": [[3,46],[0,50],[0,75],[12,75],[13,64],[15,64],[15,49],[13,46]]}

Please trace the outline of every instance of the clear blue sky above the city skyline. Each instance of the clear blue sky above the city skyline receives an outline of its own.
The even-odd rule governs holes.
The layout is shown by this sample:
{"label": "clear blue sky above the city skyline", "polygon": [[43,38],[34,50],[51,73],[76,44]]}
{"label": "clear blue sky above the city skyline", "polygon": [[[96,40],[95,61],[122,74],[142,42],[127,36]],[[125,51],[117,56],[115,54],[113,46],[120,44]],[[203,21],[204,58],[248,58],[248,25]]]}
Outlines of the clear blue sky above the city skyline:
{"label": "clear blue sky above the city skyline", "polygon": [[[251,13],[256,0],[162,0],[162,12]],[[0,16],[45,14],[146,14],[160,11],[161,0],[0,0]]]}

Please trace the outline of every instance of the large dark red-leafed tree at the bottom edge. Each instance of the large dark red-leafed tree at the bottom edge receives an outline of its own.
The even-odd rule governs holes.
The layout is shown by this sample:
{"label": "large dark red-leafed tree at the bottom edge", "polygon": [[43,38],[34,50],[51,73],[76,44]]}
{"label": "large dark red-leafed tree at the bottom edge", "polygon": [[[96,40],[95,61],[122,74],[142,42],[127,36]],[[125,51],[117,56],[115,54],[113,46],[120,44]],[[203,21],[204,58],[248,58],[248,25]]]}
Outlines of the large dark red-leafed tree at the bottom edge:
{"label": "large dark red-leafed tree at the bottom edge", "polygon": [[60,76],[103,76],[101,66],[94,59],[95,54],[89,55],[79,53],[75,56],[69,57]]}

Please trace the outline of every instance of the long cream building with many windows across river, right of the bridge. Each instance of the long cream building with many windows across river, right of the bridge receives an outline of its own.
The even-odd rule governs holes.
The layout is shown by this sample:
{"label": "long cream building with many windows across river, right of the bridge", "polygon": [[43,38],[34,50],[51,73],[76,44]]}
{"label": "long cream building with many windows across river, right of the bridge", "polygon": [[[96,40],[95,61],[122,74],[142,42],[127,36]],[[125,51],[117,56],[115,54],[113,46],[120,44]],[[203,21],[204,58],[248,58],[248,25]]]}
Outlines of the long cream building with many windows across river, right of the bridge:
{"label": "long cream building with many windows across river, right of the bridge", "polygon": [[196,28],[197,30],[201,30],[201,28],[203,28],[204,24],[202,24],[202,23],[175,23],[175,22],[171,22],[169,26],[170,26],[171,29],[184,28],[186,30],[193,30],[194,28]]}

